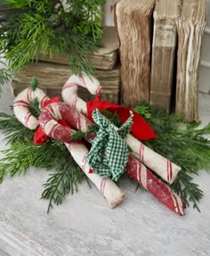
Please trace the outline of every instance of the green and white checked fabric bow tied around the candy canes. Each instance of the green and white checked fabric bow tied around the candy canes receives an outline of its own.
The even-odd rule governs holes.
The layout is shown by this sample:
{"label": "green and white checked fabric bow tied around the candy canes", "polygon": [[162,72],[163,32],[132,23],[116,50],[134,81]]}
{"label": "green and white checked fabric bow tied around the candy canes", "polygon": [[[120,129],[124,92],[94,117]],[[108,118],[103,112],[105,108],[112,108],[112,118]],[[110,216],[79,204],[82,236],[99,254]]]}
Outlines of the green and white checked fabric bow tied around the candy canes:
{"label": "green and white checked fabric bow tied around the candy canes", "polygon": [[93,111],[93,120],[99,126],[99,131],[92,141],[92,148],[86,156],[86,161],[94,173],[117,181],[128,161],[125,136],[133,124],[133,114],[131,113],[130,118],[117,131],[97,109]]}

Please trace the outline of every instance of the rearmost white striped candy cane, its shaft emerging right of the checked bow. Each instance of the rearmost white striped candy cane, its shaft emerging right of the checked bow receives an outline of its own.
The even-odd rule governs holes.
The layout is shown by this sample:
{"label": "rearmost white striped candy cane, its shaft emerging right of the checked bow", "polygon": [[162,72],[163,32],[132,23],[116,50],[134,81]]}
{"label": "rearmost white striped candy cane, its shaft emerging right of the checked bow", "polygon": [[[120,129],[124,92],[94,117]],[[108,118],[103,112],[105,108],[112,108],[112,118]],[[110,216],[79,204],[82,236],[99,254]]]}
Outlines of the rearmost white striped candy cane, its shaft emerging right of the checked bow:
{"label": "rearmost white striped candy cane, its shaft emerging right of the checked bow", "polygon": [[[64,102],[77,109],[77,111],[82,111],[86,115],[86,103],[77,96],[78,86],[87,88],[92,94],[99,94],[101,92],[100,82],[96,78],[88,78],[84,74],[80,76],[74,75],[68,79],[62,88],[62,98]],[[181,170],[179,166],[152,151],[131,135],[126,137],[126,143],[133,150],[135,158],[139,159],[149,169],[155,171],[158,176],[166,180],[167,183],[172,184],[174,182],[178,172]]]}

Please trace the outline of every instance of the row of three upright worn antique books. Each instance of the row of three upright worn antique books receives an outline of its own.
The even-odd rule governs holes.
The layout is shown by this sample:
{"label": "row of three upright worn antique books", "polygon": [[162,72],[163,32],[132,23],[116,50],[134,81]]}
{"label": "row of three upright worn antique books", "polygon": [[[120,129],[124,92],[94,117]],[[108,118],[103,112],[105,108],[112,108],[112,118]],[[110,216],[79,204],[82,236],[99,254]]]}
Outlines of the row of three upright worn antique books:
{"label": "row of three upright worn antique books", "polygon": [[122,103],[140,100],[198,120],[198,65],[206,0],[121,0],[114,6],[120,42]]}

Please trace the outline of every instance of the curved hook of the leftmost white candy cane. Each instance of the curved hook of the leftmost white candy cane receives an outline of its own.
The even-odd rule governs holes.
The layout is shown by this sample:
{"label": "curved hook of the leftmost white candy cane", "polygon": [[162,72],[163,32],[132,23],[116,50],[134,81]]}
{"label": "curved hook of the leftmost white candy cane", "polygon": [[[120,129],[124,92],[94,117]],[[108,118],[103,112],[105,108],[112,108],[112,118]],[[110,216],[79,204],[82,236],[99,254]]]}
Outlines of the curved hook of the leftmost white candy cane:
{"label": "curved hook of the leftmost white candy cane", "polygon": [[36,98],[39,102],[40,110],[43,103],[50,99],[44,94],[44,91],[39,88],[36,88],[35,91],[33,91],[31,88],[27,88],[16,96],[13,103],[13,111],[15,116],[18,120],[20,120],[20,123],[29,129],[36,129],[38,126],[38,120],[36,120],[28,109],[29,103]]}

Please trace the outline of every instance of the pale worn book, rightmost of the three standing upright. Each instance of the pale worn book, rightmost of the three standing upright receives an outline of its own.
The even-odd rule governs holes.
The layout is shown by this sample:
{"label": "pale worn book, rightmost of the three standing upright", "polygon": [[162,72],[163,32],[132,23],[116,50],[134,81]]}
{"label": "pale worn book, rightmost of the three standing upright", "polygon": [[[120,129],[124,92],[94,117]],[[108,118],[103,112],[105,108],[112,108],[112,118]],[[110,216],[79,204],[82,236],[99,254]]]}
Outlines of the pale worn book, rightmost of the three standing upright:
{"label": "pale worn book, rightmost of the three standing upright", "polygon": [[206,0],[182,0],[178,21],[176,114],[198,120],[198,66],[206,25]]}

